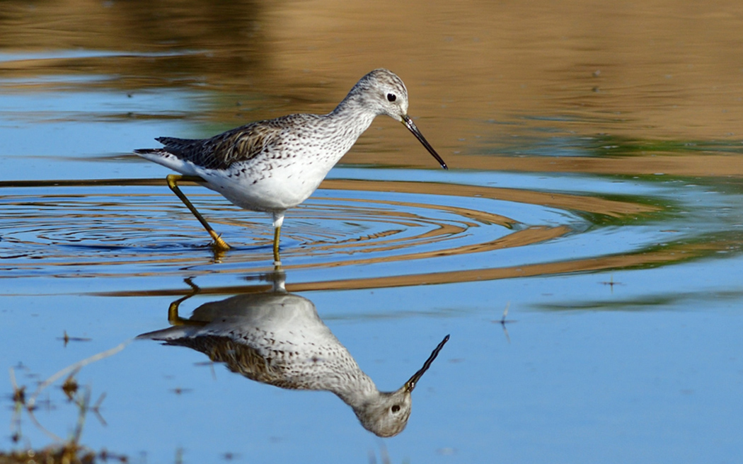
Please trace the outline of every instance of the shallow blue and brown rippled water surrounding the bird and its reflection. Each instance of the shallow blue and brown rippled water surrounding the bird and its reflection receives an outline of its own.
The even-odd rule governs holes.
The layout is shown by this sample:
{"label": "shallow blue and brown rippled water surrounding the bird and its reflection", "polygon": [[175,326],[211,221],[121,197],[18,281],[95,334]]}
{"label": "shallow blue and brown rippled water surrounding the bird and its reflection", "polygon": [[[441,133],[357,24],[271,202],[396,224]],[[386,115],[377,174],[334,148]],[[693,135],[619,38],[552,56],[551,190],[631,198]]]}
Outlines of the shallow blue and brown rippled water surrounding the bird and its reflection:
{"label": "shallow blue and brown rippled water surrounding the bird and its reflection", "polygon": [[[733,1],[0,5],[0,366],[102,393],[136,462],[733,463],[743,452],[743,7]],[[380,390],[451,338],[378,439],[332,393],[134,337],[270,290],[270,219],[133,148],[406,82],[450,171],[375,121],[282,229],[285,290]],[[186,298],[187,297],[187,298]],[[185,298],[185,299],[184,299]],[[234,300],[231,300],[234,301]],[[504,310],[507,315],[504,316]],[[504,321],[502,322],[502,318]],[[59,388],[1,451],[66,439]],[[18,442],[10,438],[15,435]]]}

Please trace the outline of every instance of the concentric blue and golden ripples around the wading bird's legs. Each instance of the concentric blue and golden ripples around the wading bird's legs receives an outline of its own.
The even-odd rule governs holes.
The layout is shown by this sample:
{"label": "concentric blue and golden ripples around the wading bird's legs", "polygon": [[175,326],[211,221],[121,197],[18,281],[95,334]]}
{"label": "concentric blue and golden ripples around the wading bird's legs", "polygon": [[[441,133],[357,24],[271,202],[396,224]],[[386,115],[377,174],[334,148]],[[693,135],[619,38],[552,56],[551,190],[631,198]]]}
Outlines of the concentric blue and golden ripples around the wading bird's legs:
{"label": "concentric blue and golden ripples around the wading bird's legs", "polygon": [[[162,183],[5,183],[1,276],[125,276],[184,268],[198,274],[213,272],[215,264],[250,273],[270,265],[273,228],[267,215],[231,206],[201,187],[184,187],[234,247],[215,254],[206,232]],[[313,198],[288,212],[282,260],[289,268],[311,269],[482,257],[569,238],[591,226],[584,213],[621,217],[652,211],[637,203],[516,189],[326,180]],[[477,259],[466,262],[479,266]]]}

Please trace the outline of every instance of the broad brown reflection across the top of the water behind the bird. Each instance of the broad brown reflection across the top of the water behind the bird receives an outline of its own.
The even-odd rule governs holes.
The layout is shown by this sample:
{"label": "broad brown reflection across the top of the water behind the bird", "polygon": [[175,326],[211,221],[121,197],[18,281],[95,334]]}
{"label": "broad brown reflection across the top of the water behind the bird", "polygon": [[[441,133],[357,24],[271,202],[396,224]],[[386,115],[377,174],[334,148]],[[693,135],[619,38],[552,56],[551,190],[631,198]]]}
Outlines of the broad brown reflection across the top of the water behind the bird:
{"label": "broad brown reflection across the top of the water behind the bird", "polygon": [[[735,64],[741,9],[736,0],[591,7],[571,0],[559,8],[548,0],[463,1],[455,10],[422,0],[3,1],[4,50],[120,56],[19,59],[0,63],[0,70],[116,76],[104,84],[114,89],[206,84],[290,97],[309,107],[291,111],[314,111],[337,101],[347,82],[374,63],[409,82],[415,113],[431,118],[429,133],[440,134],[432,143],[446,150],[470,149],[475,136],[513,134],[489,120],[545,125],[528,120],[533,117],[550,117],[547,125],[582,135],[734,139],[743,120]],[[163,52],[172,54],[137,56]],[[311,84],[320,79],[322,88]],[[233,114],[207,117],[224,122]],[[356,151],[350,159],[369,163],[367,155]],[[399,157],[387,155],[380,151],[374,161],[399,165]],[[466,160],[447,161],[458,166],[460,158]]]}

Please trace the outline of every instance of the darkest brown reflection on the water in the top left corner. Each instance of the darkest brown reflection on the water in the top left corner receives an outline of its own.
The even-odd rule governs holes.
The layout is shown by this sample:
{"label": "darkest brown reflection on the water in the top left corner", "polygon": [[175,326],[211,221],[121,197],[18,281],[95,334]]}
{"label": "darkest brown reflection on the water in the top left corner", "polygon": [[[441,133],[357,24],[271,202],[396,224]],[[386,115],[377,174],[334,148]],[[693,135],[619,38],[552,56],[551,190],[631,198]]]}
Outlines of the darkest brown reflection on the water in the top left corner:
{"label": "darkest brown reflection on the water in the top left corner", "polygon": [[126,90],[192,85],[203,76],[245,81],[262,68],[270,50],[263,10],[261,2],[248,0],[67,1],[33,7],[7,1],[0,5],[0,48],[21,56],[53,51],[0,63],[0,69],[6,78],[117,76],[100,85]]}

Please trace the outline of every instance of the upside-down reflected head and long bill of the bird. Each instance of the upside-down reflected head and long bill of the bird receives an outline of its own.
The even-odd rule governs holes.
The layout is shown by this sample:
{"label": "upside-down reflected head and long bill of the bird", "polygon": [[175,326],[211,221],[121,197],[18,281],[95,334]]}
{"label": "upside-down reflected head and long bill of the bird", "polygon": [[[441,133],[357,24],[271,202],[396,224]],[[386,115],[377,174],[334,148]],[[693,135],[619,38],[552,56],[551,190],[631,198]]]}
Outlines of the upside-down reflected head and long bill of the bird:
{"label": "upside-down reflected head and long bill of the bird", "polygon": [[354,408],[356,416],[366,430],[379,437],[395,437],[405,429],[412,408],[410,393],[448,341],[449,336],[447,335],[433,350],[431,356],[426,359],[423,367],[414,373],[398,391],[379,393],[374,401],[366,402],[359,408]]}

